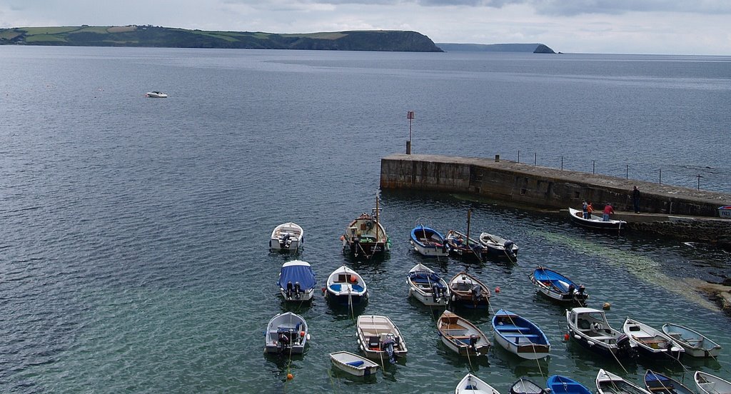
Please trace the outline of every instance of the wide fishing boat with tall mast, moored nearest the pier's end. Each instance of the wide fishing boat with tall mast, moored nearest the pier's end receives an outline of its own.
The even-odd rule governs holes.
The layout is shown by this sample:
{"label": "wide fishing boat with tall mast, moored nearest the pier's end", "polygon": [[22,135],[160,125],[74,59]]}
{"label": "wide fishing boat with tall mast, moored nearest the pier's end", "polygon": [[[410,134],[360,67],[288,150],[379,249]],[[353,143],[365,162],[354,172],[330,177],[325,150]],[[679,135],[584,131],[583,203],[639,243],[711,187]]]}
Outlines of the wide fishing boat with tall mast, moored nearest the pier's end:
{"label": "wide fishing boat with tall mast, moored nearest the pier's end", "polygon": [[390,240],[379,220],[380,211],[376,197],[376,208],[373,208],[372,213],[363,212],[348,224],[345,234],[340,237],[344,253],[370,259],[390,249]]}

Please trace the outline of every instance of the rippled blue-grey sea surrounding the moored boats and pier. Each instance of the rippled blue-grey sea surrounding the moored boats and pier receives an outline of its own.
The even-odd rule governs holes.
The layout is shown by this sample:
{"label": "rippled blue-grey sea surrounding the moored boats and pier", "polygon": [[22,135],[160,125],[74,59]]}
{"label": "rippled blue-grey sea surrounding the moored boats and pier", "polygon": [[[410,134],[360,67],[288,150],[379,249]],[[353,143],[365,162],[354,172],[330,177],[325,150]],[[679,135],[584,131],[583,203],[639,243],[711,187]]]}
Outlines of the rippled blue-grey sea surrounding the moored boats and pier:
{"label": "rippled blue-grey sea surrounding the moored boats and pier", "polygon": [[[731,57],[0,46],[0,67],[0,392],[449,393],[473,371],[507,393],[551,374],[591,388],[599,368],[634,382],[646,368],[731,378],[730,318],[689,282],[731,273],[712,247],[405,192],[380,193],[388,257],[352,261],[338,240],[374,206],[382,156],[404,151],[408,110],[414,153],[731,193]],[[540,325],[549,360],[457,357],[436,312],[407,298],[406,272],[423,261],[409,230],[466,230],[469,208],[473,231],[515,240],[518,264],[426,264],[499,287],[494,310]],[[364,276],[363,313],[401,328],[404,363],[366,380],[330,367],[328,353],[357,352],[355,319],[319,294],[282,303],[276,278],[292,257],[267,246],[284,221],[304,227],[300,258],[319,284],[343,264]],[[589,306],[610,302],[614,327],[677,322],[724,352],[618,365],[566,343],[564,307],[528,279],[539,264],[586,284]],[[262,355],[265,325],[287,310],[310,325],[306,354]],[[487,314],[465,316],[491,334]]]}

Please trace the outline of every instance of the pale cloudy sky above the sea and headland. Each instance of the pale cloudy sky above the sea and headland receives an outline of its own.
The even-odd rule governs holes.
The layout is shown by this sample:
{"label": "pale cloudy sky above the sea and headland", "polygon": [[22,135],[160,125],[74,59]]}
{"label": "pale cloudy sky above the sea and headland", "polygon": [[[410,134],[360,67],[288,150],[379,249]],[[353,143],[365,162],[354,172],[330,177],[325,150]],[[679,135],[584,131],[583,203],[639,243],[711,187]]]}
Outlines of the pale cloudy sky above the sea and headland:
{"label": "pale cloudy sky above the sea and headland", "polygon": [[731,56],[731,0],[0,0],[0,28],[83,24],[412,30],[433,42],[536,42],[564,53]]}

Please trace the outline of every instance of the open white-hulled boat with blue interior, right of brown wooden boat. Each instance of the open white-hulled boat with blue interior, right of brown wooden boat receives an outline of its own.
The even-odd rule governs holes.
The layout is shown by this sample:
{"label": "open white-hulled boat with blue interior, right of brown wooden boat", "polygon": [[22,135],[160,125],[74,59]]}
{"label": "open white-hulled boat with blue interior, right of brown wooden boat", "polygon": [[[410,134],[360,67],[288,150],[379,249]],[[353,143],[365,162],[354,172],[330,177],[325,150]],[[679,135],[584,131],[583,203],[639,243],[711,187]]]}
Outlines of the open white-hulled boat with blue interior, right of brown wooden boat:
{"label": "open white-hulled boat with blue interior, right of brown wooden boat", "polygon": [[500,309],[493,316],[495,341],[508,352],[527,360],[548,356],[550,342],[543,331],[529,319]]}

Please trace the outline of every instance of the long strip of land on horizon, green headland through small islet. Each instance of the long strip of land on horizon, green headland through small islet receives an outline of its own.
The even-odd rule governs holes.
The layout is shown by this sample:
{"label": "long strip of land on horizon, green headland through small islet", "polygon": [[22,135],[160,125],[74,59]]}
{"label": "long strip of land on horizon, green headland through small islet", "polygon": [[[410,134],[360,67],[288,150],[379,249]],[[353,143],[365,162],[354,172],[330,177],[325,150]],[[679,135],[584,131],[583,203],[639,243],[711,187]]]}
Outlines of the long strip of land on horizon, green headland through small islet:
{"label": "long strip of land on horizon, green headland through small islet", "polygon": [[0,29],[0,45],[80,47],[240,48],[444,52],[492,50],[553,53],[542,44],[435,44],[416,31],[363,30],[304,34],[206,31],[151,25],[48,26]]}

